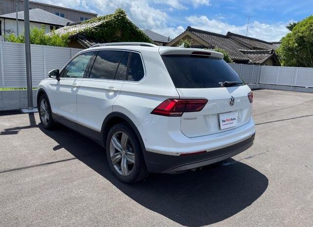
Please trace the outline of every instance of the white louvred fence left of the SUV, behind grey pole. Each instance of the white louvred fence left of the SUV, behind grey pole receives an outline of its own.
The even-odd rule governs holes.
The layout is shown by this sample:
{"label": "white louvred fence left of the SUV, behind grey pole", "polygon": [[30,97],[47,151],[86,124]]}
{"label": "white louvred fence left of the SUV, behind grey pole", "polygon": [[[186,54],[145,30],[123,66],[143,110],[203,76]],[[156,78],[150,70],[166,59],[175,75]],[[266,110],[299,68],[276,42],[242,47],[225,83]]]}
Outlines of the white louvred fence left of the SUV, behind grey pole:
{"label": "white louvred fence left of the SUV, behind grey pole", "polygon": [[[61,69],[81,49],[30,45],[32,85],[38,86],[52,69]],[[26,87],[25,45],[0,42],[0,87]]]}

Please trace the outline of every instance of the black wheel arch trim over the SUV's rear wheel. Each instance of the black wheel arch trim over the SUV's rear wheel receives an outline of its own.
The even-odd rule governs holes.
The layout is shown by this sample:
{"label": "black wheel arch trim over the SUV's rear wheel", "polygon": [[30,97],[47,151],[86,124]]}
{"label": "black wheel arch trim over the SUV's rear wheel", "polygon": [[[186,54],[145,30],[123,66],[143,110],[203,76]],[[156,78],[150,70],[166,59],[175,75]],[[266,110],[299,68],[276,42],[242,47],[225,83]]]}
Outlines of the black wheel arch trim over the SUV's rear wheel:
{"label": "black wheel arch trim over the SUV's rear wheel", "polygon": [[122,114],[120,112],[112,112],[103,121],[102,128],[101,128],[101,138],[102,138],[103,147],[106,147],[107,136],[111,127],[117,123],[122,123],[122,122],[126,123],[127,125],[131,127],[131,129],[134,131],[135,135],[138,138],[142,151],[145,151],[145,145],[143,143],[142,137],[137,127],[135,126],[134,122],[127,115]]}

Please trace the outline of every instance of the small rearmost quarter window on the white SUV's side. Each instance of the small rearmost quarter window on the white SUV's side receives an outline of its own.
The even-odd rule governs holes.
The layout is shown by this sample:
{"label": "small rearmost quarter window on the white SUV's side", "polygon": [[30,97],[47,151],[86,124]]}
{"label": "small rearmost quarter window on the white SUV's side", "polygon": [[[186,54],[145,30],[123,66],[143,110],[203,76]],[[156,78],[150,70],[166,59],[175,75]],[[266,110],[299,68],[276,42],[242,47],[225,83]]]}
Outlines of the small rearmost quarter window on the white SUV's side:
{"label": "small rearmost quarter window on the white SUV's side", "polygon": [[129,64],[128,70],[128,80],[130,81],[139,81],[144,76],[143,65],[141,57],[137,53],[132,53],[131,61]]}

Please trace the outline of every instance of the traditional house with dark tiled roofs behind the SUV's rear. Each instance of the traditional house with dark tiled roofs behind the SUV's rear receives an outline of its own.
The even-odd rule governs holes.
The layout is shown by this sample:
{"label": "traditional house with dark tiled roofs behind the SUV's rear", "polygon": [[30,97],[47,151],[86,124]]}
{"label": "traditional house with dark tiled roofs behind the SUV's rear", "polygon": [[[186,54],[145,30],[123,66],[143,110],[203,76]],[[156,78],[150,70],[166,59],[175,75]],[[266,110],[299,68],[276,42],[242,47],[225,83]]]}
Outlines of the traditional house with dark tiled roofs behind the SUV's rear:
{"label": "traditional house with dark tiled roofs behind the SUV's rear", "polygon": [[231,32],[222,35],[188,26],[186,31],[170,41],[167,46],[178,46],[181,39],[191,41],[192,47],[224,49],[236,63],[280,65],[275,54],[280,42],[267,42]]}

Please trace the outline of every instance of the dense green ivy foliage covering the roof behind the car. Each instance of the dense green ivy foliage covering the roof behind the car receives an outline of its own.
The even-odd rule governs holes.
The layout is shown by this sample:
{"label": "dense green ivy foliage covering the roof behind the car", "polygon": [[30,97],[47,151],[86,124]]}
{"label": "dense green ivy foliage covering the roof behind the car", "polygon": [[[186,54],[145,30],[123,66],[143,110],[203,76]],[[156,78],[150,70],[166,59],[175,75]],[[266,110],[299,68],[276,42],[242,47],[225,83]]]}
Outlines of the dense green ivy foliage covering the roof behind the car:
{"label": "dense green ivy foliage covering the roof behind the car", "polygon": [[[116,9],[113,14],[85,20],[82,24],[100,22],[97,26],[86,26],[78,32],[100,42],[150,42],[153,41],[127,18],[123,9]],[[76,33],[77,34],[77,33]]]}

